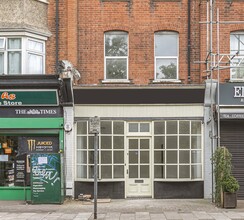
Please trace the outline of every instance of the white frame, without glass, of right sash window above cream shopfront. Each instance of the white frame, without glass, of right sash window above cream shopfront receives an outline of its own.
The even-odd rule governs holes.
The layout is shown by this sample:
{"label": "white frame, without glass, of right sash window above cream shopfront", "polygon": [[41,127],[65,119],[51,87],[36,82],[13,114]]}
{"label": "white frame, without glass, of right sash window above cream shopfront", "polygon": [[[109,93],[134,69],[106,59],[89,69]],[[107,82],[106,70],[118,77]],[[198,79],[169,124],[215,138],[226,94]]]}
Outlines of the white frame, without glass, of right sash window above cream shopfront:
{"label": "white frame, without glass, of right sash window above cream shopfront", "polygon": [[[156,56],[156,36],[157,35],[177,35],[177,55],[176,56]],[[176,78],[175,79],[158,79],[157,78],[157,59],[175,59],[176,60]],[[154,82],[163,81],[180,81],[179,80],[179,33],[176,31],[158,31],[154,33]]]}

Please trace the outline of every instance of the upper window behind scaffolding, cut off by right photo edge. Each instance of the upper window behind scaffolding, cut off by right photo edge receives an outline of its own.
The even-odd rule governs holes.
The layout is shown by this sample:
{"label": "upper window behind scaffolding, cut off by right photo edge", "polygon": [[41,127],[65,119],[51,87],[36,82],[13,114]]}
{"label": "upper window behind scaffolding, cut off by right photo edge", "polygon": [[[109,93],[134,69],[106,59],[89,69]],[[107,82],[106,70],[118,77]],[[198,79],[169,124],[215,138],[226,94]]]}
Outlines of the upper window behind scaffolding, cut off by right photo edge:
{"label": "upper window behind scaffolding, cut off by right photo edge", "polygon": [[230,35],[231,60],[230,79],[244,79],[244,33],[232,33]]}

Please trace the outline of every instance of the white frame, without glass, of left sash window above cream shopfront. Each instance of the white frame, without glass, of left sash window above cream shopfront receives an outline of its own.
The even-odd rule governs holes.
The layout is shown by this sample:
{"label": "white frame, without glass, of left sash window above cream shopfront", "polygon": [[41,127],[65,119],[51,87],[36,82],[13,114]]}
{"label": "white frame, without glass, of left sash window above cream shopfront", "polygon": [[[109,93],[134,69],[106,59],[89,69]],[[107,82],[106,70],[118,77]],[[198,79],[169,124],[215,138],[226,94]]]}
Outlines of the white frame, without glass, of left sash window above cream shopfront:
{"label": "white frame, without glass, of left sash window above cream shopfront", "polygon": [[[106,56],[106,35],[121,32],[127,36],[127,56]],[[107,79],[107,59],[126,59],[126,78]],[[129,34],[126,31],[107,31],[104,33],[104,80],[103,82],[129,82]]]}

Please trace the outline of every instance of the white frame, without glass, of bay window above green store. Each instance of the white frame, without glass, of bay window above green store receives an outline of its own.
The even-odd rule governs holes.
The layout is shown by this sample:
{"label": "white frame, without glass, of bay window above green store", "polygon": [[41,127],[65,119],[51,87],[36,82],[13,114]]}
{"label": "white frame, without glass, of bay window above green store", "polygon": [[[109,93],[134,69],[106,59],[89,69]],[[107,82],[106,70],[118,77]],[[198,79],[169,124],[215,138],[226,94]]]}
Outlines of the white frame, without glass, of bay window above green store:
{"label": "white frame, without glass, of bay window above green store", "polygon": [[[9,75],[8,73],[8,52],[9,51],[21,51],[21,72],[18,73],[17,75],[25,75],[25,74],[32,74],[28,71],[28,54],[36,54],[42,56],[42,73],[40,75],[43,75],[45,73],[45,40],[47,40],[46,37],[38,37],[36,35],[30,34],[27,35],[26,33],[11,33],[11,34],[6,34],[6,33],[0,33],[0,38],[4,39],[4,45],[1,48],[0,47],[0,53],[4,54],[4,73],[3,75]],[[21,39],[21,49],[8,49],[8,39],[11,38],[19,38]],[[31,51],[28,50],[28,40],[40,42],[43,44],[43,53],[37,52],[37,51]],[[0,45],[1,46],[1,45]]]}

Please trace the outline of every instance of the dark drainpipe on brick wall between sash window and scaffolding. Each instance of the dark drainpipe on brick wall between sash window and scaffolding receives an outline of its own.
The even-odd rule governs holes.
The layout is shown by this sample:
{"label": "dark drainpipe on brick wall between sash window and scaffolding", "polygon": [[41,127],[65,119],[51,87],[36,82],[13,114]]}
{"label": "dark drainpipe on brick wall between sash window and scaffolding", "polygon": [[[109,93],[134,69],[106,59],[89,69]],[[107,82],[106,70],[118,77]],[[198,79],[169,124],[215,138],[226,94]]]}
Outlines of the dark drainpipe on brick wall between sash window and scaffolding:
{"label": "dark drainpipe on brick wall between sash window and scaffolding", "polygon": [[188,33],[187,33],[188,82],[191,81],[191,0],[188,0]]}

